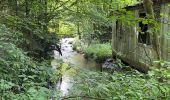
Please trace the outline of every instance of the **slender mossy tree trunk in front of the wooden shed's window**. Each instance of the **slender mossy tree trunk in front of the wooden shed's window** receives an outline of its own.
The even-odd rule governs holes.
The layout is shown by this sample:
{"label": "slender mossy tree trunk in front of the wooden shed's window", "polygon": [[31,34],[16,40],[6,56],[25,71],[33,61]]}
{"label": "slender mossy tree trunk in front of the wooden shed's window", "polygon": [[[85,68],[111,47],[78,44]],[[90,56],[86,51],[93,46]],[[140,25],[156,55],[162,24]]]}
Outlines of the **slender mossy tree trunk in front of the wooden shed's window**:
{"label": "slender mossy tree trunk in front of the wooden shed's window", "polygon": [[[143,0],[143,4],[144,4],[145,11],[147,13],[147,18],[151,20],[155,20],[152,0]],[[151,28],[156,27],[153,23],[151,23],[150,26]],[[158,38],[158,33],[156,33],[156,31],[154,30],[153,33],[150,33],[150,36],[151,36],[153,50],[156,52],[156,58],[157,60],[160,60],[161,52],[160,52],[160,42]]]}

